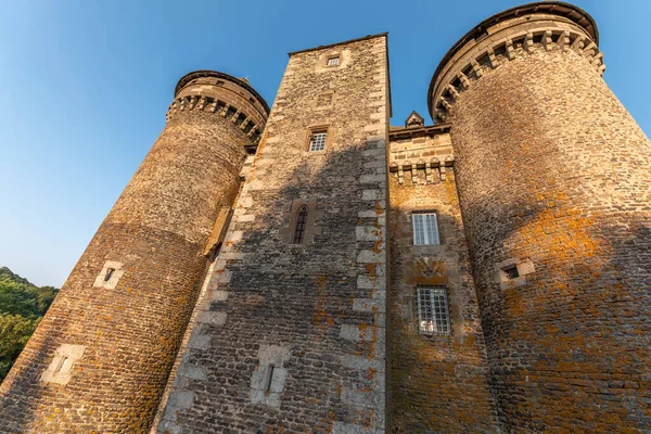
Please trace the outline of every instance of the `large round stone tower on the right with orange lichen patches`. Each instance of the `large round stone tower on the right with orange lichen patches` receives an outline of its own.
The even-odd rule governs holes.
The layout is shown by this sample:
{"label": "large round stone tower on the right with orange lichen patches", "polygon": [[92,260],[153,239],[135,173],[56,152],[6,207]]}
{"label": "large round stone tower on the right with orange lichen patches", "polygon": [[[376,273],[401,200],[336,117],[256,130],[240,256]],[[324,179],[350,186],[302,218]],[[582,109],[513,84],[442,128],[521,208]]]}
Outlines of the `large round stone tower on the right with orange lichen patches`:
{"label": "large round stone tower on the right with orange lichen patches", "polygon": [[468,33],[429,90],[509,431],[649,429],[651,146],[598,42],[580,9],[525,4]]}

